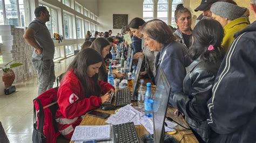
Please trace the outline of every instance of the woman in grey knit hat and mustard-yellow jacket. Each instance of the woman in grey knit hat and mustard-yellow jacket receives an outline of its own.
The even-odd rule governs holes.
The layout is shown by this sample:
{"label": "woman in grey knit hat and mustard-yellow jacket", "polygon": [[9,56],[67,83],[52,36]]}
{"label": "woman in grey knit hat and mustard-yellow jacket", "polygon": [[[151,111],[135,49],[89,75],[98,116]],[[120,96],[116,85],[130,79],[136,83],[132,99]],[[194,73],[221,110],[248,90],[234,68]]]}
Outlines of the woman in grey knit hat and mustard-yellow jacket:
{"label": "woman in grey knit hat and mustard-yellow jacket", "polygon": [[227,2],[216,2],[211,7],[212,18],[217,20],[225,31],[221,44],[225,52],[228,52],[228,49],[230,49],[234,41],[234,34],[249,25],[247,19],[243,17],[245,11],[246,9]]}

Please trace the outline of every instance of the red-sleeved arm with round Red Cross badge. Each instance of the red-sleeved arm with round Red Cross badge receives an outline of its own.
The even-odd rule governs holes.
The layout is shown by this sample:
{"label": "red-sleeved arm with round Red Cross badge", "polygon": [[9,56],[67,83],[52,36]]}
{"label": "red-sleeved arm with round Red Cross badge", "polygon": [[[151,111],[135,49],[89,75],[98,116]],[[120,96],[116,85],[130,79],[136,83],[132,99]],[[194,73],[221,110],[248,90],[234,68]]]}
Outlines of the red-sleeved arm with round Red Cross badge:
{"label": "red-sleeved arm with round Red Cross badge", "polygon": [[[86,92],[86,91],[85,91]],[[65,118],[73,119],[84,115],[86,112],[96,109],[102,104],[102,98],[91,95],[89,98],[82,98],[85,95],[80,92],[78,82],[70,82],[60,85],[58,89],[58,105]]]}

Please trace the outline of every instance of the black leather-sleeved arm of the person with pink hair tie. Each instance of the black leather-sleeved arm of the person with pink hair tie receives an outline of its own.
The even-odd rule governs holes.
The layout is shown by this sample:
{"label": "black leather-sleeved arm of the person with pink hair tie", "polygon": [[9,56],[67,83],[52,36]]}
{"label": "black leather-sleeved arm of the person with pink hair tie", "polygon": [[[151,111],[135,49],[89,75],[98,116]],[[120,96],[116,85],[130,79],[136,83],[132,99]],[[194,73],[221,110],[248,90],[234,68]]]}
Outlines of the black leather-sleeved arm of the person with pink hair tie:
{"label": "black leather-sleeved arm of the person with pink hair tie", "polygon": [[188,76],[192,76],[190,95],[176,92],[173,95],[173,106],[193,120],[206,120],[208,117],[207,101],[212,96],[215,75],[205,69],[199,69],[194,71],[193,75]]}

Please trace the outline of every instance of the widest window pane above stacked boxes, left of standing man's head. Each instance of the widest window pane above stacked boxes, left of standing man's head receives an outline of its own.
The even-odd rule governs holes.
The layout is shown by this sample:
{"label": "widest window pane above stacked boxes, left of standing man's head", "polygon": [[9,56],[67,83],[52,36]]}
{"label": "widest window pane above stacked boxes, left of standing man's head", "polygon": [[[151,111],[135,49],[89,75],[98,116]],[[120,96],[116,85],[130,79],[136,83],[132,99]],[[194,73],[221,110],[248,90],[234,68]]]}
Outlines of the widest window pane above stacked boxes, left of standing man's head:
{"label": "widest window pane above stacked boxes, left of standing man's head", "polygon": [[16,0],[4,0],[4,3],[7,25],[19,26]]}

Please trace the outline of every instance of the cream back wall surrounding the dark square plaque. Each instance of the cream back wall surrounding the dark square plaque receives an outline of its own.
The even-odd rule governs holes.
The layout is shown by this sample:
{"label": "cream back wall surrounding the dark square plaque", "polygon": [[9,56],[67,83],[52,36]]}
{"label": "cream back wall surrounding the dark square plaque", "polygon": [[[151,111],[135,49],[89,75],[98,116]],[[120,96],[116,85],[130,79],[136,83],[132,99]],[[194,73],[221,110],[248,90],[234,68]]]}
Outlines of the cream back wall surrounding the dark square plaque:
{"label": "cream back wall surrounding the dark square plaque", "polygon": [[98,31],[112,30],[113,34],[120,33],[120,29],[113,29],[113,14],[127,14],[128,23],[135,17],[142,18],[143,0],[98,0]]}

